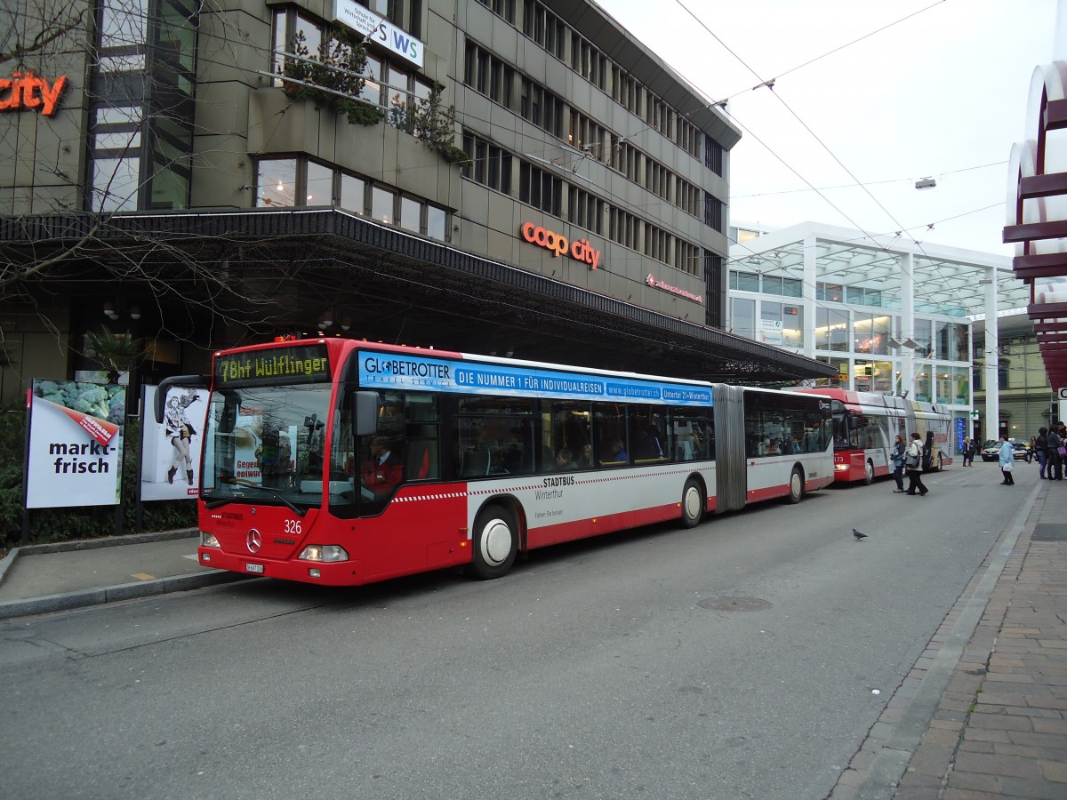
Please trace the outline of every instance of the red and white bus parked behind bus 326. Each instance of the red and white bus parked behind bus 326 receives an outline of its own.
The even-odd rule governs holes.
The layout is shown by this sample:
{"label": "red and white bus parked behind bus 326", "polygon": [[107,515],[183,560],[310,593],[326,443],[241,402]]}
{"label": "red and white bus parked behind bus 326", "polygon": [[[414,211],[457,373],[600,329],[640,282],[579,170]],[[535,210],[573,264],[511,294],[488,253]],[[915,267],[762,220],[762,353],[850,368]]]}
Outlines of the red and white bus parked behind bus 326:
{"label": "red and white bus parked behind bus 326", "polygon": [[933,403],[897,395],[838,388],[797,389],[830,399],[833,415],[833,479],[871,483],[892,475],[893,439],[904,444],[918,432],[923,439],[924,470],[940,470],[953,461],[952,415]]}

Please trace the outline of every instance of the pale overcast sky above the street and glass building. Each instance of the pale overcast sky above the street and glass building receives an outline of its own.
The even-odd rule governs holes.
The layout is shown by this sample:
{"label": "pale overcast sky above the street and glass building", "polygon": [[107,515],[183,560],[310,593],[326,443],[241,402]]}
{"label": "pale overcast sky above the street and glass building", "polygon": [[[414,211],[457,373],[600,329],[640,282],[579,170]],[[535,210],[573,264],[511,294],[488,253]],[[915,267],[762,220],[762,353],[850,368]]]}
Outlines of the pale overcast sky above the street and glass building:
{"label": "pale overcast sky above the street and glass building", "polygon": [[[732,221],[1013,254],[1007,160],[1031,75],[1053,59],[1056,0],[598,3],[708,98],[730,98],[744,132]],[[915,190],[926,176],[937,188]]]}

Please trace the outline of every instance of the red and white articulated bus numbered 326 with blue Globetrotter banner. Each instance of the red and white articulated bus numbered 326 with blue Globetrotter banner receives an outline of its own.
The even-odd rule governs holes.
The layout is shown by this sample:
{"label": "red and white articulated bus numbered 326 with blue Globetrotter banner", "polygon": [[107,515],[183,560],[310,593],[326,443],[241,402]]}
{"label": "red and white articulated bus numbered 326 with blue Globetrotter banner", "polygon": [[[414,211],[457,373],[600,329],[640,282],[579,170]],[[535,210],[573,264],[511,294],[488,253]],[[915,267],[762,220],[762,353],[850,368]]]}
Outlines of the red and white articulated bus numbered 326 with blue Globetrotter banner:
{"label": "red and white articulated bus numbered 326 with blue Globetrotter banner", "polygon": [[203,436],[200,562],[331,586],[833,480],[823,397],[346,339],[216,353]]}

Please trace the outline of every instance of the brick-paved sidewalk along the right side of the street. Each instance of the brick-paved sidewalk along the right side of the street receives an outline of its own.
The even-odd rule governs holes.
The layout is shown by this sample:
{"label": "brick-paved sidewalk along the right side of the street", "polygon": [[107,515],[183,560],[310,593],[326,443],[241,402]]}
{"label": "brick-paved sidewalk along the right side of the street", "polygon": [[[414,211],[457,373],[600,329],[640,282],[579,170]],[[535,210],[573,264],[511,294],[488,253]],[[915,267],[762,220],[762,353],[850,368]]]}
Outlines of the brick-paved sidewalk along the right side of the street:
{"label": "brick-paved sidewalk along the right side of the street", "polygon": [[1039,481],[832,800],[1067,798],[1067,483]]}

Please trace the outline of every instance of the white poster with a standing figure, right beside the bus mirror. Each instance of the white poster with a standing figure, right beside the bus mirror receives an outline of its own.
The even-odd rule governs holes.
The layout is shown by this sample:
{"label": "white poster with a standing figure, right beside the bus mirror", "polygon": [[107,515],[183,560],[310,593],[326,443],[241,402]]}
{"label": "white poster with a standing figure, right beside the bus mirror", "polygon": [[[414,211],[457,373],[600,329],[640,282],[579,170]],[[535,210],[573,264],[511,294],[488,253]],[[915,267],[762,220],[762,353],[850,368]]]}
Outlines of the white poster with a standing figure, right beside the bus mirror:
{"label": "white poster with a standing figure, right beside the bus mirror", "polygon": [[207,389],[171,386],[163,403],[163,421],[153,409],[156,387],[143,388],[141,425],[141,499],[195,498],[200,485]]}

